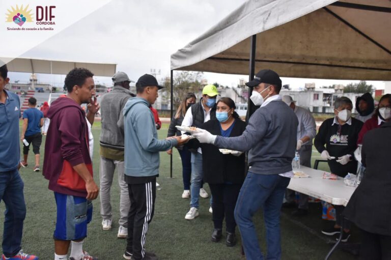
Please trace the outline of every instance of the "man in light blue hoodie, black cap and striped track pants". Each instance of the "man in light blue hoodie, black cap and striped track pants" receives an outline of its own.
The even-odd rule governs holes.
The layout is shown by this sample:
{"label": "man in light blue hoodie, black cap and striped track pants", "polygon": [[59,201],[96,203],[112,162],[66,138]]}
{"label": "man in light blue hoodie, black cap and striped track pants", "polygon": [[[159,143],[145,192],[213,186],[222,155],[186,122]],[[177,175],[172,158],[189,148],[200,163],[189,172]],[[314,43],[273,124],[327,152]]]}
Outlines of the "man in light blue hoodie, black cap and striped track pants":
{"label": "man in light blue hoodie, black cap and striped track pants", "polygon": [[158,90],[162,88],[154,76],[141,76],[136,83],[137,96],[126,102],[123,121],[118,122],[125,130],[125,181],[130,198],[125,259],[158,259],[155,254],[146,252],[144,245],[155,207],[159,152],[183,145],[188,140],[180,136],[158,140],[149,106],[155,103]]}

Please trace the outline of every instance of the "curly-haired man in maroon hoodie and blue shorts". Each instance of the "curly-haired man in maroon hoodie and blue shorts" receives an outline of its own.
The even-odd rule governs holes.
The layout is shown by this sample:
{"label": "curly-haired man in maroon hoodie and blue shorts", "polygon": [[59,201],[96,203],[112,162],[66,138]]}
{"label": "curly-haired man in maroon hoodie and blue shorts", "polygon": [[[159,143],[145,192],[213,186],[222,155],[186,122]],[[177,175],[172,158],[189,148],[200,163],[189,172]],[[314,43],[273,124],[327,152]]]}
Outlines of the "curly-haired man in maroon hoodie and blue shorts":
{"label": "curly-haired man in maroon hoodie and blue shorts", "polygon": [[[81,104],[97,107],[95,84],[91,71],[83,68],[71,70],[65,78],[68,95],[51,103],[47,117],[51,124],[47,131],[43,175],[49,180],[57,204],[57,221],[54,230],[54,259],[95,260],[82,250],[87,237],[87,223],[92,218],[92,202],[99,188],[93,179],[89,154],[89,136],[86,114]],[[91,109],[87,118],[96,112]]]}

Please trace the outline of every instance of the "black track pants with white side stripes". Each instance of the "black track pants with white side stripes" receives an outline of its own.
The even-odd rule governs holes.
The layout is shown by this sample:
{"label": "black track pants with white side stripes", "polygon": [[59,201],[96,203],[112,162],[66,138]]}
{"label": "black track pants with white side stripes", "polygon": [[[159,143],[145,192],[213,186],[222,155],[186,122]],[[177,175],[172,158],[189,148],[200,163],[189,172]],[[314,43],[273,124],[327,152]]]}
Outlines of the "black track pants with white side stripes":
{"label": "black track pants with white side stripes", "polygon": [[128,184],[130,210],[128,215],[128,238],[126,251],[136,260],[145,256],[145,239],[148,224],[155,209],[156,178],[142,184]]}

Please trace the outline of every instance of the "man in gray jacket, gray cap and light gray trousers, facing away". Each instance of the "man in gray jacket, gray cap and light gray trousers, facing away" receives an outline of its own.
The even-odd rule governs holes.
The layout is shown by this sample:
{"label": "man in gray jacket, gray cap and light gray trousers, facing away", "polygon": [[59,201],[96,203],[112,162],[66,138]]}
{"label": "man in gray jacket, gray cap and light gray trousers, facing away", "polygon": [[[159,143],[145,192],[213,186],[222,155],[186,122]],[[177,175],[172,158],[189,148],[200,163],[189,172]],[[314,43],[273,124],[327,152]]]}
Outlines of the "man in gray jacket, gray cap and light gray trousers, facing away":
{"label": "man in gray jacket, gray cap and light gray trousers, facing away", "polygon": [[[102,131],[100,132],[100,215],[103,230],[110,230],[113,213],[110,204],[110,188],[113,184],[114,171],[117,167],[120,185],[120,219],[118,237],[128,235],[128,213],[130,199],[128,185],[124,180],[124,131],[117,126],[123,120],[122,109],[129,98],[135,95],[129,91],[132,80],[124,72],[113,76],[113,90],[102,96],[100,102]],[[133,81],[134,82],[134,81]]]}

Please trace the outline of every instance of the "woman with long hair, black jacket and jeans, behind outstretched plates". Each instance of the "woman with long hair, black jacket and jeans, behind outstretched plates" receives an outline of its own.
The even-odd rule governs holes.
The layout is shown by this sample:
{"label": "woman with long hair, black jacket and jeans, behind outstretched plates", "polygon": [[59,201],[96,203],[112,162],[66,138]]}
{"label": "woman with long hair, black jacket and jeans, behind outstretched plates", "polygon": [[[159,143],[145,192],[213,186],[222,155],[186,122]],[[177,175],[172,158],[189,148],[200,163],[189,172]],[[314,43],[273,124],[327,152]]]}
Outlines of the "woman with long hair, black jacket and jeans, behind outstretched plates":
{"label": "woman with long hair, black jacket and jeans, behind outstretched plates", "polygon": [[[180,136],[182,135],[181,131],[175,128],[175,126],[182,125],[183,118],[185,117],[187,109],[192,104],[195,104],[195,95],[193,93],[187,93],[181,104],[179,105],[174,117],[171,119],[169,132],[167,137],[171,136]],[[191,177],[191,153],[186,146],[177,147],[178,152],[182,160],[182,177],[183,177],[183,193],[182,198],[190,197],[190,177]],[[167,154],[172,154],[173,150],[170,149],[167,151]]]}

